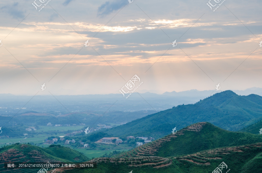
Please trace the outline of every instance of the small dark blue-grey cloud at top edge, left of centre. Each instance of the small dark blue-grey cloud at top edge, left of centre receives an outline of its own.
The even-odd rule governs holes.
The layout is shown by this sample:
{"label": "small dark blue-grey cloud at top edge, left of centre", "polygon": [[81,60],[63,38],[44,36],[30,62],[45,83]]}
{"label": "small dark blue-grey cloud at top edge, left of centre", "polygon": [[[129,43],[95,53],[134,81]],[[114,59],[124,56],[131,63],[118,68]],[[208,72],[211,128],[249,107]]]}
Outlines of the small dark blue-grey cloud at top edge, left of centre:
{"label": "small dark blue-grey cloud at top edge, left of centre", "polygon": [[109,15],[111,12],[122,8],[126,4],[126,1],[114,1],[114,2],[105,2],[100,7],[98,7],[98,16],[104,17]]}

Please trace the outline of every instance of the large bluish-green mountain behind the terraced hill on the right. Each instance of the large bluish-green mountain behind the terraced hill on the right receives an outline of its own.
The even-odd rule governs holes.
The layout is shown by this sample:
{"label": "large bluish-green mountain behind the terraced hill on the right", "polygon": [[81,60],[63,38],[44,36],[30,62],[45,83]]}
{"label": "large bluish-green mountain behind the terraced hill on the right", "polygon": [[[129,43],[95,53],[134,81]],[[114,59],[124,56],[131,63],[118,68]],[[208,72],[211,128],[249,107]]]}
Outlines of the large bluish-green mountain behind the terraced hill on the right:
{"label": "large bluish-green mountain behind the terraced hill on the right", "polygon": [[[146,98],[145,98],[146,99]],[[238,131],[262,118],[262,97],[240,96],[233,91],[216,93],[195,104],[178,105],[108,129],[108,136],[151,136],[159,138],[177,127],[208,121],[226,130]]]}

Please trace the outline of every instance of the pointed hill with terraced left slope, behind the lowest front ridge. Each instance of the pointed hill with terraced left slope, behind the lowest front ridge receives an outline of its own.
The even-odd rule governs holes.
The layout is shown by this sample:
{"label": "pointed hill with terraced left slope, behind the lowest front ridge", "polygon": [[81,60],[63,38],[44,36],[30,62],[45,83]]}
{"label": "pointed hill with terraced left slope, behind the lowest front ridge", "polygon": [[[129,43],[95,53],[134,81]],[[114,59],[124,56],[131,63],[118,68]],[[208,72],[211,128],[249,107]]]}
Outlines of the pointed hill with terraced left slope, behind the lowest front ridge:
{"label": "pointed hill with terraced left slope, behind the lowest front ridge", "polygon": [[192,154],[217,147],[237,146],[262,142],[262,135],[232,132],[208,122],[199,122],[185,127],[176,134],[170,134],[151,143],[141,145],[116,158],[160,156],[170,157]]}

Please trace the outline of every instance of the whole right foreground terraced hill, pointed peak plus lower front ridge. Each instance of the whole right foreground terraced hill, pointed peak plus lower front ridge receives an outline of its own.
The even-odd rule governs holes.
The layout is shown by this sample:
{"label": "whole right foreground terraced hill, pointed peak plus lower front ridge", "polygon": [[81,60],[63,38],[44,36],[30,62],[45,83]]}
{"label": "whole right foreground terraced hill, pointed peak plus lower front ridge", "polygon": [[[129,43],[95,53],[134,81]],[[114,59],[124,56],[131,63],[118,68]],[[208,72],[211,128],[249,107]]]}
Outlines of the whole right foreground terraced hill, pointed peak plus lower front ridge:
{"label": "whole right foreground terraced hill, pointed peak plus lower front ridge", "polygon": [[92,161],[98,164],[95,170],[59,171],[208,173],[224,162],[223,173],[261,173],[262,135],[227,131],[199,122],[113,158]]}

